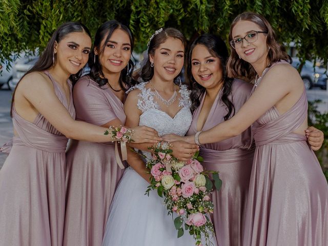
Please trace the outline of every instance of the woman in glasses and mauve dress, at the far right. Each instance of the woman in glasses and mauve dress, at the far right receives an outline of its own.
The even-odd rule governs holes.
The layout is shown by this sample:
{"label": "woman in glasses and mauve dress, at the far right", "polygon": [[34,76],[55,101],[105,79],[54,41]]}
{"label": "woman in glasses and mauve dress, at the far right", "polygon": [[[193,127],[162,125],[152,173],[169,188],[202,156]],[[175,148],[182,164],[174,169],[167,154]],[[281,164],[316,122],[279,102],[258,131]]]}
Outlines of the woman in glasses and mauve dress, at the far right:
{"label": "woman in glasses and mauve dress, at the far right", "polygon": [[[200,144],[240,134],[253,124],[255,154],[243,245],[328,245],[328,186],[306,142],[308,102],[298,72],[287,63],[261,15],[244,12],[231,26],[228,74],[256,74],[250,99],[231,119],[197,135]],[[251,66],[250,66],[251,65]]]}

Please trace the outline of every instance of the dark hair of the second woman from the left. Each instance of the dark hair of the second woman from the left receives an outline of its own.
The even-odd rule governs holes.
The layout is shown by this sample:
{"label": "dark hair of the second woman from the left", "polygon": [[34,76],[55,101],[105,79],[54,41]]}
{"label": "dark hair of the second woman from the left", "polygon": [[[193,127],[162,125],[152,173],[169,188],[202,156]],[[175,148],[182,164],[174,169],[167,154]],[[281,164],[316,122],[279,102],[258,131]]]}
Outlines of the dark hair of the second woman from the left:
{"label": "dark hair of the second woman from the left", "polygon": [[[129,35],[130,44],[131,44],[131,56],[132,56],[134,42],[133,42],[133,34],[130,31],[130,29],[127,26],[117,22],[117,20],[108,20],[103,25],[101,25],[98,28],[96,35],[94,37],[94,49],[95,48],[97,49],[98,55],[94,53],[94,49],[93,49],[91,51],[91,55],[88,63],[91,69],[89,75],[94,81],[96,81],[99,87],[104,86],[108,83],[108,79],[105,77],[103,73],[103,68],[99,63],[99,56],[104,53],[106,44],[116,29],[121,29]],[[100,47],[101,41],[104,39],[105,39],[104,45],[103,47]],[[119,76],[119,85],[123,90],[127,90],[127,88],[135,84],[135,81],[131,77],[133,69],[134,69],[134,62],[130,58],[128,65],[121,71],[121,74]]]}

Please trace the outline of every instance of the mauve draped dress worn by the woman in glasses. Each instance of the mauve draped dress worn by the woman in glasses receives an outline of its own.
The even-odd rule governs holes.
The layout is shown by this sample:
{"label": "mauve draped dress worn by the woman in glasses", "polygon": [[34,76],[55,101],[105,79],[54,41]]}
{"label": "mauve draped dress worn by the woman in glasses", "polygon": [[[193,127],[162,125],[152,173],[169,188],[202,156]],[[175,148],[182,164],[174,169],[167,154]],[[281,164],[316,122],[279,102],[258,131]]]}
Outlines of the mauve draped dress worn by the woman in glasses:
{"label": "mauve draped dress worn by the woman in glasses", "polygon": [[290,110],[279,114],[272,107],[252,126],[256,150],[244,246],[328,245],[327,181],[306,137],[293,133],[307,111],[304,89]]}

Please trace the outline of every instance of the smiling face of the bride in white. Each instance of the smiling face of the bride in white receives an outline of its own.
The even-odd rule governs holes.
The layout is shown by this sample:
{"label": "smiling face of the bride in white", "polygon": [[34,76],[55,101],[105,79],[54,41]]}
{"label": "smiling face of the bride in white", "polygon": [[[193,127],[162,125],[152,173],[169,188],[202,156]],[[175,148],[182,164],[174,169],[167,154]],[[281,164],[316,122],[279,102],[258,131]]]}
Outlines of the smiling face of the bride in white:
{"label": "smiling face of the bride in white", "polygon": [[178,38],[168,37],[159,45],[153,55],[149,55],[154,63],[154,76],[162,81],[172,81],[181,72],[185,57],[185,46]]}

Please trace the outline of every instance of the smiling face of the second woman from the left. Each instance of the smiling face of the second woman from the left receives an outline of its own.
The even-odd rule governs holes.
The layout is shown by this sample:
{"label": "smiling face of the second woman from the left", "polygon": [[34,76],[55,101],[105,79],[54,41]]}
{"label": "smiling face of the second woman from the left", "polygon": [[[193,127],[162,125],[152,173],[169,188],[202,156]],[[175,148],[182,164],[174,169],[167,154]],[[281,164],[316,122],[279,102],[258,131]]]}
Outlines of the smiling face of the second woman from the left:
{"label": "smiling face of the second woman from the left", "polygon": [[[106,39],[107,35],[100,44],[100,47],[105,45],[105,49],[100,52],[99,63],[105,74],[120,73],[128,65],[131,58],[130,37],[124,30],[116,29],[105,44]],[[99,54],[96,47],[95,54]]]}

